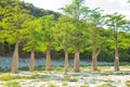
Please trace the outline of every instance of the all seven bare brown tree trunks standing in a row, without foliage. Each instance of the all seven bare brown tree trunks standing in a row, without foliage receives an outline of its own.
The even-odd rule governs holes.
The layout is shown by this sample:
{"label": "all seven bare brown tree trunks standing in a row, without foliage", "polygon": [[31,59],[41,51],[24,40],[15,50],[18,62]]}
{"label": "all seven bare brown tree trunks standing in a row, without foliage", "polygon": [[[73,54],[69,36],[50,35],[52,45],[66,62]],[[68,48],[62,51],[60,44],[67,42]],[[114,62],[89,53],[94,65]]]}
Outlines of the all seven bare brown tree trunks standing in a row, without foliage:
{"label": "all seven bare brown tree trunks standing in a row, without foliage", "polygon": [[[47,57],[46,57],[46,71],[51,71],[51,54],[50,48],[47,49]],[[75,51],[74,57],[74,71],[80,72],[80,52],[78,50]],[[18,70],[18,42],[15,44],[13,60],[11,72],[17,73]],[[35,70],[35,48],[31,49],[30,53],[30,66],[29,71]],[[98,53],[95,51],[92,52],[92,70],[98,70]],[[115,49],[115,71],[119,71],[119,57],[118,57],[118,49]],[[65,50],[65,73],[68,72],[68,52]]]}

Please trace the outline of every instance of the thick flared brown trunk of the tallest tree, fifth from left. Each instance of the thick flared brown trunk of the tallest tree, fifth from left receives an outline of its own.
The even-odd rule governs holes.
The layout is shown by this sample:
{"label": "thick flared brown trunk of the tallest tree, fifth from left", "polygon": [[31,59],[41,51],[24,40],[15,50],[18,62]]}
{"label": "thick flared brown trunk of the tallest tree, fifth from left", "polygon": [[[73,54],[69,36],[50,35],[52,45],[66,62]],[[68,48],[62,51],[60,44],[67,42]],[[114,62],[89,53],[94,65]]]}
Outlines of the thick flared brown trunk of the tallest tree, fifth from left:
{"label": "thick flared brown trunk of the tallest tree, fifth from left", "polygon": [[79,59],[80,52],[78,50],[75,51],[75,58],[74,58],[74,71],[80,72],[80,59]]}

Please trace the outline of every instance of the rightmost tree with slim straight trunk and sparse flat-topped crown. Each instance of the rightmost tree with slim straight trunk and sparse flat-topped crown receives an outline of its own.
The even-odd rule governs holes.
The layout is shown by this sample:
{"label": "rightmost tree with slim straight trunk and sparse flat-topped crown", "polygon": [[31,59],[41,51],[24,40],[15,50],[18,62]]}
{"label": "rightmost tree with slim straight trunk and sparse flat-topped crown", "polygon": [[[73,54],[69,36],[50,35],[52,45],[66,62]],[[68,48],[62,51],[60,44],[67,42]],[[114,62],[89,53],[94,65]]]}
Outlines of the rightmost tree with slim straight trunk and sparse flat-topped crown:
{"label": "rightmost tree with slim straight trunk and sparse flat-topped crown", "polygon": [[114,47],[115,47],[115,71],[119,71],[119,32],[123,25],[126,25],[125,16],[118,13],[114,13],[112,15],[106,15],[107,26],[113,30],[113,39],[114,39]]}

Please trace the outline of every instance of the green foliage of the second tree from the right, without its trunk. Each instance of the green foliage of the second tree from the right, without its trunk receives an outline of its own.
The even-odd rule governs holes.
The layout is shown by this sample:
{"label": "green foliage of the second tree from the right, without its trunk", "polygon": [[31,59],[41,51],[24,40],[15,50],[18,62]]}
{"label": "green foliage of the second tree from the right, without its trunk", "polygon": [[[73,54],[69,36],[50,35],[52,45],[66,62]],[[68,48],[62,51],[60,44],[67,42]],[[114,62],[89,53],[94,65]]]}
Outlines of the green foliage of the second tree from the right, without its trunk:
{"label": "green foliage of the second tree from the right, without its trunk", "polygon": [[91,10],[88,14],[89,23],[89,47],[87,50],[92,50],[92,54],[95,53],[96,57],[102,49],[106,47],[106,38],[108,38],[103,28],[104,26],[104,16],[100,9]]}

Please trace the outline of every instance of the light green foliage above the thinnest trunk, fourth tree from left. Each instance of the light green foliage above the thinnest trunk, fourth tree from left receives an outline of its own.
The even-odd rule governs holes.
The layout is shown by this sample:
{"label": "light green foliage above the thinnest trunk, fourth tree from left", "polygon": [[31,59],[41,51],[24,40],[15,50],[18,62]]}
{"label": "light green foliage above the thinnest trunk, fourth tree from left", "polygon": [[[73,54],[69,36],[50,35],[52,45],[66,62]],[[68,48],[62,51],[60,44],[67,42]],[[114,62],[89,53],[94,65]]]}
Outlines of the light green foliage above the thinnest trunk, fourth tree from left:
{"label": "light green foliage above the thinnest trunk, fourth tree from left", "polygon": [[54,39],[57,41],[56,50],[68,50],[70,51],[72,45],[72,34],[74,33],[75,25],[73,24],[74,18],[69,16],[61,16],[55,24]]}

